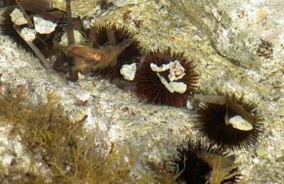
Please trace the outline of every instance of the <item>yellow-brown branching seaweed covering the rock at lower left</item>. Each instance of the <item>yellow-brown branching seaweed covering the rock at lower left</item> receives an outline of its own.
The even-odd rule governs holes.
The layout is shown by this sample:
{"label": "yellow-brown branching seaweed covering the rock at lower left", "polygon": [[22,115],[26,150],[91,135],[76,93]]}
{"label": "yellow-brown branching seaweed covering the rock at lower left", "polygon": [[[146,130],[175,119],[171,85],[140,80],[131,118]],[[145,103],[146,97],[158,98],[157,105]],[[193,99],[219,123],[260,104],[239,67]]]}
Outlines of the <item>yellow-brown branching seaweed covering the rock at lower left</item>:
{"label": "yellow-brown branching seaweed covering the rock at lower left", "polygon": [[[0,166],[1,183],[120,183],[130,180],[135,159],[131,146],[107,151],[97,145],[96,131],[87,134],[82,120],[72,122],[58,104],[55,93],[44,105],[34,106],[23,89],[0,98],[0,119],[12,126],[10,137],[21,136],[21,144],[31,155],[27,173]],[[125,156],[129,159],[125,159]],[[38,168],[40,166],[40,168]],[[42,171],[43,173],[40,173]]]}

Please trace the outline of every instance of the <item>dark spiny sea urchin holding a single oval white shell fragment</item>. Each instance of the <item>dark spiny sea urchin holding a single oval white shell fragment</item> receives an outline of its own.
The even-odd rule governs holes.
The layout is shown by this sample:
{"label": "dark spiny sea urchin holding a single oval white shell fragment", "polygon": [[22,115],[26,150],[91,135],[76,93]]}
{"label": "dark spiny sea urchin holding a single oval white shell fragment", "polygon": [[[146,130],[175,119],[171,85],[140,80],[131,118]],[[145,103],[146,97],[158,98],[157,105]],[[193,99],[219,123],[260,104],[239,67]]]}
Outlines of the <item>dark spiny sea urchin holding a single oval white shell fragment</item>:
{"label": "dark spiny sea urchin holding a single oval white shell fragment", "polygon": [[[257,104],[246,101],[244,94],[239,97],[234,93],[219,93],[218,98],[220,97],[226,98],[230,103],[235,103],[236,109],[234,109],[234,105],[226,105],[226,103],[224,105],[204,103],[198,110],[199,116],[197,117],[196,127],[200,130],[200,134],[207,137],[209,142],[213,142],[224,149],[244,149],[255,144],[262,132],[261,116],[258,115],[256,110]],[[236,113],[236,111],[239,113]],[[242,113],[243,111],[245,112]],[[239,130],[228,123],[231,117],[237,115],[246,120],[251,119],[251,129]]]}

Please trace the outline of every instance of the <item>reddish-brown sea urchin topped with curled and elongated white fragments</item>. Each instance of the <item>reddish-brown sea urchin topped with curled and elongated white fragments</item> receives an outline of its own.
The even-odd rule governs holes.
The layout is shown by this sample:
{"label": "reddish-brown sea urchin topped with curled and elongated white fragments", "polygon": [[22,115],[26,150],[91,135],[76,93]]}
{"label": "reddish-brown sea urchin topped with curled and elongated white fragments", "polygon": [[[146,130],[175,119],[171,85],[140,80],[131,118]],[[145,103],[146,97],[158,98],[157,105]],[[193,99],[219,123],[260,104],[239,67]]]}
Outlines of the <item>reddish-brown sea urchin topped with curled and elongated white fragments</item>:
{"label": "reddish-brown sea urchin topped with curled and elongated white fragments", "polygon": [[[171,69],[168,69],[170,71],[156,72],[153,71],[151,67],[153,64],[158,67],[163,67],[166,64],[177,61],[182,66],[183,71],[180,72],[176,70],[174,72],[180,72],[180,76],[181,74],[183,76],[174,81],[170,81],[169,79]],[[190,96],[190,93],[192,93],[196,87],[197,79],[198,74],[195,71],[193,62],[188,61],[183,52],[172,53],[169,47],[168,50],[163,52],[158,50],[146,54],[136,73],[136,93],[141,101],[146,101],[147,103],[180,107],[185,105],[188,96]],[[183,83],[182,85],[186,85],[185,90],[182,92],[169,91],[165,85],[171,82],[175,82],[175,84]]]}

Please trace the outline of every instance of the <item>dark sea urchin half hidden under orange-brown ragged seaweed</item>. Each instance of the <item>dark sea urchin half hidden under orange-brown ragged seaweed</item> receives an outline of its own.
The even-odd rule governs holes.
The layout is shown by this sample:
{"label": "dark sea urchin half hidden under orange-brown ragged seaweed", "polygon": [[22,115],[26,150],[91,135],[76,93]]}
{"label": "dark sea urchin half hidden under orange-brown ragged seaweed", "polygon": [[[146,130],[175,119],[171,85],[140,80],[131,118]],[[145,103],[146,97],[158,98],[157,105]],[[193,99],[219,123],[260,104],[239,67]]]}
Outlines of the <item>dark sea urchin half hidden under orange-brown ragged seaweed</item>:
{"label": "dark sea urchin half hidden under orange-brown ragged seaweed", "polygon": [[[110,30],[110,31],[109,31]],[[92,76],[97,79],[112,81],[113,79],[124,79],[120,73],[121,67],[124,64],[138,63],[142,56],[142,48],[139,41],[134,38],[134,33],[131,33],[126,27],[119,27],[116,24],[100,25],[94,31],[94,34],[89,37],[94,38],[94,49],[100,46],[117,45],[124,40],[131,40],[131,44],[124,49],[117,57],[115,66],[105,67],[104,69],[95,69],[92,71]]]}

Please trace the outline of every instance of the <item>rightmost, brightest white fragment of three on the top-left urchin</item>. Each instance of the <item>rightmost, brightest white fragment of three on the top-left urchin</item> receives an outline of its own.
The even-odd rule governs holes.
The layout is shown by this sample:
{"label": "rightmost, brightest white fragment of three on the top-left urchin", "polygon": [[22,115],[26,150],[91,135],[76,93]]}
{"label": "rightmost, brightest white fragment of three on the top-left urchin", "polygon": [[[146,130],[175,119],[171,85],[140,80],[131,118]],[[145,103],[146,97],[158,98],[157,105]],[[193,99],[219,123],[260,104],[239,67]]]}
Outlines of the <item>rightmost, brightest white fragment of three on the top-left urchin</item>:
{"label": "rightmost, brightest white fragment of three on the top-left urchin", "polygon": [[57,23],[53,23],[37,16],[33,17],[33,22],[35,23],[36,32],[40,34],[53,33],[55,27],[57,26]]}

